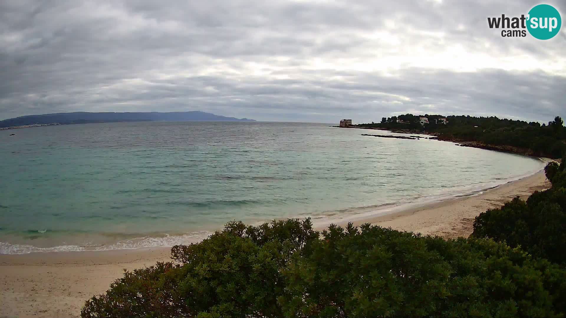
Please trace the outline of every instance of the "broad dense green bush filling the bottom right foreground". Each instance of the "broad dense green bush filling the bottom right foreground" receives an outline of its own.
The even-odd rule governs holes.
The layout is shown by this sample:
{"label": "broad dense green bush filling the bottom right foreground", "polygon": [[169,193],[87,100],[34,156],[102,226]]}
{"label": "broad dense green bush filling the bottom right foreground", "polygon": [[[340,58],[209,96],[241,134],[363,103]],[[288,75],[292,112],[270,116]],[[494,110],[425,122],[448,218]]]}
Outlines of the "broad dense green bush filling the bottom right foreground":
{"label": "broad dense green bush filling the bottom right foreground", "polygon": [[564,311],[564,271],[492,240],[330,227],[284,270],[288,317],[544,317]]}

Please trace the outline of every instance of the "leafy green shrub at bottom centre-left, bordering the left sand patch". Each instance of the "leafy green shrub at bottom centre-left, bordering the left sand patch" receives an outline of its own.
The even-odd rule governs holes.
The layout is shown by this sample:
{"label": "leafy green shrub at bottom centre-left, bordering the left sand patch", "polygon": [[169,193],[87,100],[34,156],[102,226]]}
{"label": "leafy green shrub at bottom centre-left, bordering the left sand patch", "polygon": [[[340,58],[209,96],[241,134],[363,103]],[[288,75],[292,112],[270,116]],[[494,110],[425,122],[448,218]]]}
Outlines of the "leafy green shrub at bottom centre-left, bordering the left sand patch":
{"label": "leafy green shrub at bottom centre-left, bordering the left sand patch", "polygon": [[[85,304],[82,317],[281,317],[281,274],[293,253],[318,239],[310,220],[271,226],[229,222],[190,246],[174,246],[182,263],[126,272],[104,295]],[[167,304],[167,306],[165,306]]]}

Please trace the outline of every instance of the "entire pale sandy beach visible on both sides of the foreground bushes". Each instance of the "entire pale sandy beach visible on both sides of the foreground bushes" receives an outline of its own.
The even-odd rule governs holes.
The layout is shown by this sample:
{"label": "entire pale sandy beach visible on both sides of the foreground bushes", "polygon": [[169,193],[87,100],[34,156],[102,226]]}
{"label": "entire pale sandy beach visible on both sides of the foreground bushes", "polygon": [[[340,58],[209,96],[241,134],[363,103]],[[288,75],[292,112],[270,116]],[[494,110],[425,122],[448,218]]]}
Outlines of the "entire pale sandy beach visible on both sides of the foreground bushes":
{"label": "entire pale sandy beach visible on both sides of the foreground bushes", "polygon": [[[389,214],[355,220],[398,230],[467,237],[474,217],[514,196],[550,187],[542,172],[484,191]],[[169,260],[168,248],[0,255],[0,317],[77,317],[84,301],[103,293],[122,269]]]}

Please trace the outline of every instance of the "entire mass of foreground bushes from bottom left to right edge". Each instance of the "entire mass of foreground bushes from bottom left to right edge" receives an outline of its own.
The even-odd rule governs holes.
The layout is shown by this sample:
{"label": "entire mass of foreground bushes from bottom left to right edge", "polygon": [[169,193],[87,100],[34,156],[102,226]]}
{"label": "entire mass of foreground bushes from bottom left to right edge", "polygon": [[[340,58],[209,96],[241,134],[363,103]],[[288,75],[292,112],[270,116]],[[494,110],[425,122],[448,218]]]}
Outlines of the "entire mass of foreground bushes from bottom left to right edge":
{"label": "entire mass of foreground bushes from bottom left to right edge", "polygon": [[309,219],[229,222],[170,263],[127,271],[82,317],[564,317],[566,171],[443,239]]}

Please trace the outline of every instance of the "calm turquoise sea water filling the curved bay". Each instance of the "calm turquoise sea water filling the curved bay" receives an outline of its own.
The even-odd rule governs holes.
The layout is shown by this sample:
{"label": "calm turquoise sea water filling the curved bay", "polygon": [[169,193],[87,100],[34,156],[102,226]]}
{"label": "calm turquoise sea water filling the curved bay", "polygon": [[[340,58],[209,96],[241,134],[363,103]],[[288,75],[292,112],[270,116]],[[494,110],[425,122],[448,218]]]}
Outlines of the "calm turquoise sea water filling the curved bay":
{"label": "calm turquoise sea water filling the curved bay", "polygon": [[383,214],[543,168],[536,158],[367,132],[263,122],[0,131],[0,253],[171,246],[229,220]]}

